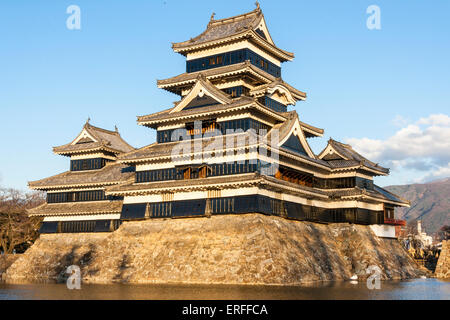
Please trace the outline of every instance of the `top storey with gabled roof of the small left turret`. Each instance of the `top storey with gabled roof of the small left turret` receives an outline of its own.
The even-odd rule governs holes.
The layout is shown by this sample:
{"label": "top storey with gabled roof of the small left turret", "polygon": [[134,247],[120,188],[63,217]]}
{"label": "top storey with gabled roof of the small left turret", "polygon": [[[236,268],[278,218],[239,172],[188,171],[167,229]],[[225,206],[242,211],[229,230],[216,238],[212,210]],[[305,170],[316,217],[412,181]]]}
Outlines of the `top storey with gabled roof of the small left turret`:
{"label": "top storey with gabled roof of the small left turret", "polygon": [[70,143],[54,147],[55,154],[70,157],[70,171],[98,170],[116,160],[121,153],[134,150],[120,136],[117,127],[109,131],[94,127],[89,120]]}

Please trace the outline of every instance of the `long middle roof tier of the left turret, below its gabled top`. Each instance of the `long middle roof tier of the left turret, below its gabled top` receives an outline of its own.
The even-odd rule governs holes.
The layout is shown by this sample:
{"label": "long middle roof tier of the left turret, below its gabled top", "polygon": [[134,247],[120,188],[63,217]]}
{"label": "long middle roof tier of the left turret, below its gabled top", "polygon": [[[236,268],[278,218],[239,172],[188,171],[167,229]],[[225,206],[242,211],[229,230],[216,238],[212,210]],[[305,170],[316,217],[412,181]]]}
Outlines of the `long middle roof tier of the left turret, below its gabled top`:
{"label": "long middle roof tier of the left turret, below its gabled top", "polygon": [[62,189],[69,187],[103,187],[123,182],[134,175],[120,163],[108,163],[99,170],[66,171],[58,175],[28,182],[34,190]]}

